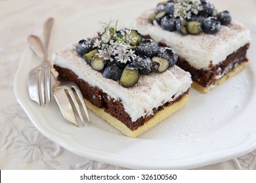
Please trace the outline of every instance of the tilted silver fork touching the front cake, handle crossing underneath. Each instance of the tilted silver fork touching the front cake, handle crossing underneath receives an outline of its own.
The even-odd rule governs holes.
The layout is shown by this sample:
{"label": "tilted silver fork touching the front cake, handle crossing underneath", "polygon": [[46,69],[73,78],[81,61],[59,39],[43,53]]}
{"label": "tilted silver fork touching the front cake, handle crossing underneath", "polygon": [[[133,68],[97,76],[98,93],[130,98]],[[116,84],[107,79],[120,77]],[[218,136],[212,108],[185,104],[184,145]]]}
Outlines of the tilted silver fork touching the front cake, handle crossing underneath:
{"label": "tilted silver fork touching the front cake, handle crossing underneath", "polygon": [[[32,50],[43,61],[45,50],[39,37],[32,36],[29,41],[31,41]],[[55,79],[53,95],[64,118],[77,126],[79,126],[79,121],[85,124],[84,116],[90,122],[89,113],[78,86],[74,82],[66,82],[58,78],[58,73],[54,69],[52,69],[52,74]]]}

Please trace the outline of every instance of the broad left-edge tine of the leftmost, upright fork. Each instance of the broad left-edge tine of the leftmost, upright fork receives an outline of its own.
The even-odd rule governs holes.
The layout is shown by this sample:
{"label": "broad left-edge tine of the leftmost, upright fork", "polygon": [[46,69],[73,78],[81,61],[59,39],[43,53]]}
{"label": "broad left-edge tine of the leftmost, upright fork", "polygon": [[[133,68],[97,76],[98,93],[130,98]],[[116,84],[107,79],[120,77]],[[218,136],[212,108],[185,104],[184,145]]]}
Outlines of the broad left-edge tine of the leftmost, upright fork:
{"label": "broad left-edge tine of the leftmost, upright fork", "polygon": [[[36,69],[36,71],[35,71]],[[37,75],[37,68],[30,71],[28,86],[30,86],[28,93],[30,94],[30,99],[41,105],[40,96],[39,96],[39,76]]]}

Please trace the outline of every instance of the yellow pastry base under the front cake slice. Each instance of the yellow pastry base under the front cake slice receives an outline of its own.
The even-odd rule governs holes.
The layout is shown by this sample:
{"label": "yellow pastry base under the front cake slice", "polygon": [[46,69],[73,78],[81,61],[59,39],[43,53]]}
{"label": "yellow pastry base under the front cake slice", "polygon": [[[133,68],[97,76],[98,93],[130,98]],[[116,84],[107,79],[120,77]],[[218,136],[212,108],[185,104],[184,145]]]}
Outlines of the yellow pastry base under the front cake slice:
{"label": "yellow pastry base under the front cake slice", "polygon": [[108,123],[110,123],[111,125],[116,127],[116,129],[119,129],[119,131],[121,131],[123,134],[125,134],[129,137],[137,137],[144,131],[150,129],[154,125],[160,123],[162,120],[164,120],[165,118],[167,118],[168,116],[173,114],[173,112],[179,110],[179,108],[181,108],[185,103],[188,102],[188,99],[189,99],[189,96],[188,96],[188,94],[186,94],[181,98],[181,100],[179,100],[167,107],[163,107],[163,110],[156,112],[156,114],[153,118],[148,120],[148,122],[146,122],[146,124],[138,127],[134,131],[129,129],[125,124],[123,124],[122,122],[120,122],[119,120],[117,120],[116,118],[111,116],[110,114],[106,113],[104,111],[104,108],[98,108],[95,105],[93,105],[92,103],[90,103],[89,101],[87,101],[87,100],[85,100],[85,101],[86,101],[88,108],[90,108],[93,112],[95,112],[95,114],[100,116],[102,119],[106,120]]}

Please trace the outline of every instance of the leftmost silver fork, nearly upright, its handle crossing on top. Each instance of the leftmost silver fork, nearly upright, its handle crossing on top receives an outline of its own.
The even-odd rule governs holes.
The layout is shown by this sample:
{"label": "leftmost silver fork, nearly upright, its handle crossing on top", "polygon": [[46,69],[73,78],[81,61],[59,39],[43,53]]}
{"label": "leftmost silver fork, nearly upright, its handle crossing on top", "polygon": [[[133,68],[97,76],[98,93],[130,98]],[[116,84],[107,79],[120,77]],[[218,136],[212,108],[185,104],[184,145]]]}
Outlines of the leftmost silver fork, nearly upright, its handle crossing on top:
{"label": "leftmost silver fork, nearly upright, its handle crossing on top", "polygon": [[[47,95],[48,101],[51,102],[51,63],[47,60],[47,54],[53,22],[53,18],[49,18],[43,25],[45,39],[43,63],[32,69],[28,76],[28,93],[30,94],[30,99],[39,105],[46,103],[45,95]],[[28,42],[33,42],[32,37],[28,37]],[[30,47],[32,47],[31,44]]]}

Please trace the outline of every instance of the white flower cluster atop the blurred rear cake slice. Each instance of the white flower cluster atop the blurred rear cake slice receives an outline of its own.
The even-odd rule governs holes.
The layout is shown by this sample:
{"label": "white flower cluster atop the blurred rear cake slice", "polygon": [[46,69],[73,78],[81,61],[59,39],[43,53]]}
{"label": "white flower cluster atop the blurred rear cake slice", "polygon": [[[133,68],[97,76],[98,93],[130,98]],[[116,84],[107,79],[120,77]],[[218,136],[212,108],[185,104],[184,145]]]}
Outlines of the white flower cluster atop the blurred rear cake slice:
{"label": "white flower cluster atop the blurred rear cake slice", "polygon": [[174,6],[174,16],[179,17],[181,20],[191,18],[191,14],[198,14],[202,7],[199,6],[198,0],[177,0]]}

